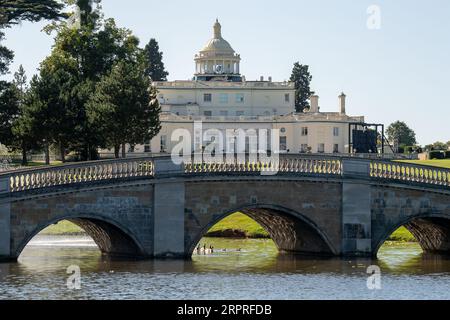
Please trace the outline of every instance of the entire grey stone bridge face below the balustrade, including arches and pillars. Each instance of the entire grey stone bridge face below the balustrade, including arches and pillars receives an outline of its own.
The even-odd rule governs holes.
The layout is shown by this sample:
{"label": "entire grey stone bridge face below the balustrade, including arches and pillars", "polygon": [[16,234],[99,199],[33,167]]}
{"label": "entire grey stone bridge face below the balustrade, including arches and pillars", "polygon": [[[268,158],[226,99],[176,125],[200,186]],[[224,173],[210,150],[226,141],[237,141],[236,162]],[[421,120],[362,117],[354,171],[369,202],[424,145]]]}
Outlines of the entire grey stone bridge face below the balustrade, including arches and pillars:
{"label": "entire grey stone bridge face below the balustrade, including arches and pillars", "polygon": [[[354,160],[351,160],[354,161]],[[190,257],[202,236],[242,211],[285,252],[376,255],[405,225],[428,252],[450,253],[450,191],[342,177],[181,174],[166,164],[155,178],[61,186],[0,197],[0,258],[17,259],[42,229],[60,220],[84,228],[100,250],[132,257]]]}

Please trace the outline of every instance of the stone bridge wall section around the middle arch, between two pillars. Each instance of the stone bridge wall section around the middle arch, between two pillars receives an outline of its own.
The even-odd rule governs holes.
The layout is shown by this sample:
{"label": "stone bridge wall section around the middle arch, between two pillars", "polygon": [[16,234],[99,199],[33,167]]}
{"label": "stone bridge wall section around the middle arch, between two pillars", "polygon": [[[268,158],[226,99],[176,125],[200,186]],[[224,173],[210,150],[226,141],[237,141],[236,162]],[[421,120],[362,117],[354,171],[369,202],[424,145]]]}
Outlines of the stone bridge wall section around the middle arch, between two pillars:
{"label": "stone bridge wall section around the middle arch, between two pillars", "polygon": [[[236,211],[244,211],[264,226],[283,251],[340,252],[340,183],[211,181],[189,183],[186,194],[186,248],[189,252],[215,223]],[[305,243],[295,243],[296,239]],[[317,242],[312,239],[328,247],[318,252],[318,247],[314,247]]]}

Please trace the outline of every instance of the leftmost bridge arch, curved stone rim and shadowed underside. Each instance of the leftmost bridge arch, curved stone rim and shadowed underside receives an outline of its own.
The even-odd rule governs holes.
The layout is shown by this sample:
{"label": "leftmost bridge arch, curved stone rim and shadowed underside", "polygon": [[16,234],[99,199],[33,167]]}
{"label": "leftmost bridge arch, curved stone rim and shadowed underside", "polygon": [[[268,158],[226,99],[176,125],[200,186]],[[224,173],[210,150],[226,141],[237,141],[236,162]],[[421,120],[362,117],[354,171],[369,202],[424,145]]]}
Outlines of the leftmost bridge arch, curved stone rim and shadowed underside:
{"label": "leftmost bridge arch, curved stone rim and shadowed underside", "polygon": [[61,215],[39,222],[32,231],[21,239],[15,248],[14,256],[18,258],[27,244],[42,230],[60,221],[70,221],[83,229],[97,244],[102,254],[111,257],[144,256],[144,249],[133,233],[123,224],[105,216],[93,214]]}

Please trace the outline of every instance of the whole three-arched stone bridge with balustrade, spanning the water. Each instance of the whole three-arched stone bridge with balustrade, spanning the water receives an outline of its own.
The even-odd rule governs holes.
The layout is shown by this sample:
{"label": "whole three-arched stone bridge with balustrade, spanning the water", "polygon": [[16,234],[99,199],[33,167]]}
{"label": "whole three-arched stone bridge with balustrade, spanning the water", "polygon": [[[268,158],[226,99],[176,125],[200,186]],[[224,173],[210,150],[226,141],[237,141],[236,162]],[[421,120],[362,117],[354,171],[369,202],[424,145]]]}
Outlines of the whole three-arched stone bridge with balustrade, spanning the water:
{"label": "whole three-arched stone bridge with balustrade, spanning the water", "polygon": [[447,169],[312,155],[181,165],[147,157],[0,174],[0,260],[16,260],[61,220],[86,230],[104,254],[189,258],[236,211],[282,252],[376,256],[404,225],[424,251],[450,253]]}

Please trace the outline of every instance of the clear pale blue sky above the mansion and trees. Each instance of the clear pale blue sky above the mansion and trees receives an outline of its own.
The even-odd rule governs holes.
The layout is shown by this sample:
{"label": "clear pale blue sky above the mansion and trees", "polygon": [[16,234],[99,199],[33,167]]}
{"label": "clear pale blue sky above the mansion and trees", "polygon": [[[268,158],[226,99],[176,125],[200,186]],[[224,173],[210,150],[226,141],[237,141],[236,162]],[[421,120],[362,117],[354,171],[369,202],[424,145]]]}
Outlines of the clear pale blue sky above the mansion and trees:
{"label": "clear pale blue sky above the mansion and trees", "polygon": [[[103,0],[102,7],[142,46],[156,38],[169,80],[192,78],[194,55],[218,18],[247,80],[288,80],[299,61],[310,66],[321,111],[337,111],[345,92],[350,115],[405,121],[422,145],[450,140],[448,0]],[[45,25],[7,30],[12,72],[22,64],[31,78],[49,55]]]}

